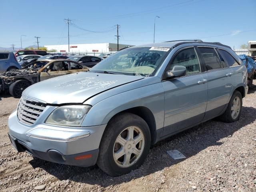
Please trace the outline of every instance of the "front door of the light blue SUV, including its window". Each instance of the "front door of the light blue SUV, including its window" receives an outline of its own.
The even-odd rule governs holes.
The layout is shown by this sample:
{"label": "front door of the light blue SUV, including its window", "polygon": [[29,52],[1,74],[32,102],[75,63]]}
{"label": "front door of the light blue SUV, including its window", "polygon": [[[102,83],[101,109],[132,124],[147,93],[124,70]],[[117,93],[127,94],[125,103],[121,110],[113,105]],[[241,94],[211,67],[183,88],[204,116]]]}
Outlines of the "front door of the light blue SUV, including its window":
{"label": "front door of the light blue SUV, including its window", "polygon": [[166,70],[185,66],[186,76],[162,82],[165,90],[164,135],[175,134],[202,121],[207,104],[207,82],[194,47],[179,50]]}

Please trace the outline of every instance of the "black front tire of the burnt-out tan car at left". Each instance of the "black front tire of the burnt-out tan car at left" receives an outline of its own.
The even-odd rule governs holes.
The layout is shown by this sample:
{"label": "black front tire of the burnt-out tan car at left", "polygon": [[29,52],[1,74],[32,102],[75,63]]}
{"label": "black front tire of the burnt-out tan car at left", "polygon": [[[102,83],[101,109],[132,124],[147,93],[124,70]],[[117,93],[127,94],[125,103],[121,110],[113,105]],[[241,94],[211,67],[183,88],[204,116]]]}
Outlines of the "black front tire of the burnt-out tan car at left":
{"label": "black front tire of the burnt-out tan car at left", "polygon": [[30,86],[30,83],[25,80],[18,80],[12,83],[9,87],[9,92],[11,96],[15,98],[20,98],[22,95],[22,92]]}

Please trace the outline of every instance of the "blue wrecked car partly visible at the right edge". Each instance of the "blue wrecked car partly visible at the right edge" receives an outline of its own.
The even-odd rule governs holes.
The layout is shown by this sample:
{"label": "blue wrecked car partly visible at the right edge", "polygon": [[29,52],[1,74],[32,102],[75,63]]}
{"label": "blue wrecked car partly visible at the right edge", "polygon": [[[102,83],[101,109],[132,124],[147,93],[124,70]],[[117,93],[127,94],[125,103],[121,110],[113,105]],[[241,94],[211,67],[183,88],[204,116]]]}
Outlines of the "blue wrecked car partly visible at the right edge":
{"label": "blue wrecked car partly visible at the right edge", "polygon": [[252,86],[252,81],[255,78],[256,74],[256,62],[250,56],[239,55],[239,57],[242,60],[243,65],[247,68],[247,85],[250,88]]}

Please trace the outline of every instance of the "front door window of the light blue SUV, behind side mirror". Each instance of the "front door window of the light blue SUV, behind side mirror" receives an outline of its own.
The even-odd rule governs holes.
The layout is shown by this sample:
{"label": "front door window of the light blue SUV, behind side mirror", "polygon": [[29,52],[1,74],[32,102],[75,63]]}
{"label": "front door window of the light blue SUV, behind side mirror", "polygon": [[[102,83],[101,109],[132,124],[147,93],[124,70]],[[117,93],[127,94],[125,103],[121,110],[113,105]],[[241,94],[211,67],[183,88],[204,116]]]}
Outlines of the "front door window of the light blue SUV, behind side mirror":
{"label": "front door window of the light blue SUV, behind side mirror", "polygon": [[176,65],[184,66],[187,74],[198,73],[201,71],[198,57],[194,48],[188,48],[180,51],[172,61],[170,70]]}

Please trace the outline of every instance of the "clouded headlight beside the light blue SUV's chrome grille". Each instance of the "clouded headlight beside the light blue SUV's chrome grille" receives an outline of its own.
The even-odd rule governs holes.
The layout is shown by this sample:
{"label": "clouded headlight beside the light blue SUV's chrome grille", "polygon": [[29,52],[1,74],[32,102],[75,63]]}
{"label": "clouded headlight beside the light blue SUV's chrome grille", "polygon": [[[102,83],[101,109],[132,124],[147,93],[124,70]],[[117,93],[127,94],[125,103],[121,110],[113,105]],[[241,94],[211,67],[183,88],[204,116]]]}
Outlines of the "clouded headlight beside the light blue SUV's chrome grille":
{"label": "clouded headlight beside the light blue SUV's chrome grille", "polygon": [[64,126],[81,126],[90,105],[66,105],[56,108],[45,123]]}

